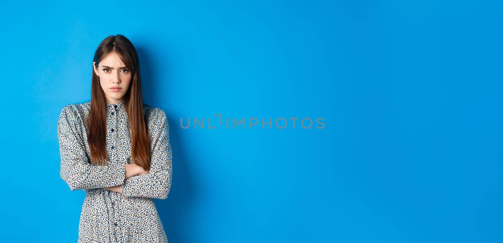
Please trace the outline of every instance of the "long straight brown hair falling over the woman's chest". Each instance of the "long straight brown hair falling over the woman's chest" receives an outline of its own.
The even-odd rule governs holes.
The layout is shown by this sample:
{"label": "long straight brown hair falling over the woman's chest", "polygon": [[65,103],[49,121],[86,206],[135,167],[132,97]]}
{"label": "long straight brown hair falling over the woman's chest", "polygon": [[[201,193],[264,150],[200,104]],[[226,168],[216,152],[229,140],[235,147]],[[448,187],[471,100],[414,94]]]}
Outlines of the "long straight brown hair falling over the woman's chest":
{"label": "long straight brown hair falling over the woman's chest", "polygon": [[[124,108],[131,127],[131,157],[135,164],[148,170],[150,168],[150,142],[147,136],[145,117],[143,116],[143,99],[141,95],[140,63],[136,49],[131,41],[123,35],[109,36],[96,49],[93,61],[98,68],[100,61],[111,52],[116,52],[126,67],[131,70],[131,82],[124,94]],[[93,67],[94,68],[94,67]],[[89,111],[88,142],[94,164],[105,165],[109,160],[105,150],[106,144],[106,99],[100,84],[100,77],[93,70],[91,82],[91,110]],[[105,159],[104,159],[105,158]]]}

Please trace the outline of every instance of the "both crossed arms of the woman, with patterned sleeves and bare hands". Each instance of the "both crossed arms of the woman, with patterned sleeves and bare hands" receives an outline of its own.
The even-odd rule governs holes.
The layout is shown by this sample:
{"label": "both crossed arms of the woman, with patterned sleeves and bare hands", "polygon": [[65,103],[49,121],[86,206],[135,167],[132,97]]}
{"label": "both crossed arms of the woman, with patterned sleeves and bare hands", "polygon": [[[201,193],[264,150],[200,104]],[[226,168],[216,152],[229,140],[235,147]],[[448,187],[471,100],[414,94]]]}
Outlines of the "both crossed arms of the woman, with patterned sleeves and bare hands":
{"label": "both crossed arms of the woman, with patterned sleeves and bare hands", "polygon": [[[148,173],[137,165],[92,165],[79,139],[77,117],[71,105],[61,110],[58,140],[61,156],[60,176],[70,190],[105,188],[126,197],[165,199],[171,188],[172,151],[169,125],[164,111],[156,108],[150,146]],[[136,166],[136,167],[135,167]],[[129,167],[129,168],[128,168]],[[137,168],[139,167],[139,168]]]}

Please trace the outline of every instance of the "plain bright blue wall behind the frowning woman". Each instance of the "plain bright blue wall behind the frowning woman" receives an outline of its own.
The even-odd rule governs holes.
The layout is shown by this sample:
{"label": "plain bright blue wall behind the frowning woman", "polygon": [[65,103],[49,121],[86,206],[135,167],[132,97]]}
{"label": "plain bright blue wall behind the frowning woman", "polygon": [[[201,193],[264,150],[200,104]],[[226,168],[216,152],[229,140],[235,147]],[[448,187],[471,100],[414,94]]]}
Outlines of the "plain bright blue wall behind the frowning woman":
{"label": "plain bright blue wall behind the frowning woman", "polygon": [[[501,242],[502,7],[3,2],[0,238],[76,241],[85,193],[59,177],[57,119],[122,34],[170,122],[170,243]],[[180,126],[214,114],[325,128]]]}

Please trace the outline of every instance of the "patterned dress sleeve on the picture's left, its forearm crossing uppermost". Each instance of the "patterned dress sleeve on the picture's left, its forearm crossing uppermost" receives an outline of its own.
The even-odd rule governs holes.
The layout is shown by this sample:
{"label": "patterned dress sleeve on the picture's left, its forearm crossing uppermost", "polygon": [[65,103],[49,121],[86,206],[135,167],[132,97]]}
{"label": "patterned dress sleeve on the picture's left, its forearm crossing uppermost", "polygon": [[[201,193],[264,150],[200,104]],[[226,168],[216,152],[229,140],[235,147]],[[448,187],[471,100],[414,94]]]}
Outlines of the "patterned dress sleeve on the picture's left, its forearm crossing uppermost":
{"label": "patterned dress sleeve on the picture's left, its forearm crossing uppermost", "polygon": [[78,110],[66,105],[59,115],[57,134],[61,157],[59,174],[70,190],[95,189],[124,183],[124,165],[95,165],[86,156],[86,147],[79,133]]}

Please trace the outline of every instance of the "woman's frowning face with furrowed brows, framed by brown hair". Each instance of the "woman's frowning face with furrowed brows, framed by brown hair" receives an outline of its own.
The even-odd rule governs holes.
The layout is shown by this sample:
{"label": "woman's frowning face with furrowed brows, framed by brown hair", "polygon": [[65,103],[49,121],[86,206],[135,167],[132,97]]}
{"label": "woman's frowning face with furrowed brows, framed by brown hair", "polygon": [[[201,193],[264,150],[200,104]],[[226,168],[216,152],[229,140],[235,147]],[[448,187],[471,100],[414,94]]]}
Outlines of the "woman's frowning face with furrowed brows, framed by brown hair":
{"label": "woman's frowning face with furrowed brows, framed by brown hair", "polygon": [[115,104],[123,101],[131,82],[131,71],[116,52],[106,55],[99,65],[97,69],[96,63],[93,62],[93,69],[96,75],[100,76],[101,88],[107,102]]}

